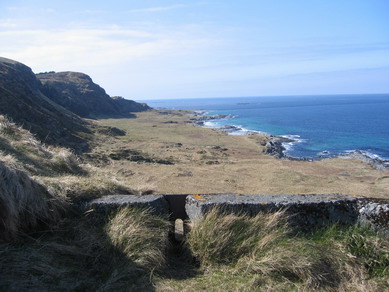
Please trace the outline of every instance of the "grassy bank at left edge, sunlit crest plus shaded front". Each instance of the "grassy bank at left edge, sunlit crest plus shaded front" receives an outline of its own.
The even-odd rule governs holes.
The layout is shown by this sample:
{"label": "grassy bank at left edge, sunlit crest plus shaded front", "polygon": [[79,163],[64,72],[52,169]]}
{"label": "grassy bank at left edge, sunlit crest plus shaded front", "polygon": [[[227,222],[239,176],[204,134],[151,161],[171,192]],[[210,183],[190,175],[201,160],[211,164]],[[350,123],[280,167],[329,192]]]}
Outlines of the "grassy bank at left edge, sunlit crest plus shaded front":
{"label": "grassy bank at left edge, sunlit crest plus shaded front", "polygon": [[55,222],[67,201],[135,193],[98,168],[82,165],[72,151],[46,147],[4,116],[0,116],[0,149],[2,239]]}

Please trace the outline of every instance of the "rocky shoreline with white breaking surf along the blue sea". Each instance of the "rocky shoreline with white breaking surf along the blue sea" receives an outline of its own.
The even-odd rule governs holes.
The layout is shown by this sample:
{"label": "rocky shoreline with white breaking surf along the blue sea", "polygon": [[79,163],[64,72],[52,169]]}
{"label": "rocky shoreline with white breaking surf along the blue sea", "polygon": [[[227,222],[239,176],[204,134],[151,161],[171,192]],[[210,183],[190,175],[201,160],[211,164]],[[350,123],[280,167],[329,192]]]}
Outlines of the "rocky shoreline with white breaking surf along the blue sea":
{"label": "rocky shoreline with white breaking surf along the blue sea", "polygon": [[[224,125],[224,126],[218,126],[217,124],[213,124],[213,121],[217,121],[220,119],[233,119],[234,115],[207,115],[207,111],[196,111],[196,110],[189,110],[190,115],[193,116],[190,120],[193,121],[193,123],[197,126],[204,127],[204,128],[211,128],[216,131],[224,132],[228,135],[239,135],[239,136],[245,136],[245,135],[255,135],[255,134],[262,134],[268,137],[268,141],[265,145],[266,147],[266,154],[270,156],[274,156],[279,159],[285,159],[290,161],[321,161],[325,159],[332,159],[332,158],[340,158],[340,159],[356,159],[359,161],[362,161],[364,163],[367,163],[374,168],[378,170],[385,170],[389,169],[389,160],[388,159],[382,159],[381,157],[367,152],[363,150],[352,150],[348,153],[339,153],[334,155],[329,155],[327,151],[323,151],[323,155],[320,155],[318,157],[312,158],[312,157],[294,157],[290,156],[286,153],[288,148],[293,147],[293,144],[299,143],[299,139],[293,139],[290,136],[277,136],[269,133],[259,132],[255,130],[249,130],[249,129],[243,129],[236,125]],[[208,123],[208,124],[207,124]]]}

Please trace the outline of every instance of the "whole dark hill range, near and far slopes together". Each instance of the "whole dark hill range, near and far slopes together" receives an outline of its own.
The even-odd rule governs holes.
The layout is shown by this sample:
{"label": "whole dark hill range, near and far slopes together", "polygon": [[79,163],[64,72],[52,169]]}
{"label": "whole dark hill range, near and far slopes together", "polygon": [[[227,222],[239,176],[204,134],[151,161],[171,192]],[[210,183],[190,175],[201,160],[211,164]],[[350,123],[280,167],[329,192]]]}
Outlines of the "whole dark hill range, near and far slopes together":
{"label": "whole dark hill range, near and far slopes together", "polygon": [[34,133],[41,141],[84,152],[97,131],[122,135],[84,118],[130,117],[150,109],[143,103],[111,98],[83,73],[35,75],[26,65],[0,57],[0,115]]}

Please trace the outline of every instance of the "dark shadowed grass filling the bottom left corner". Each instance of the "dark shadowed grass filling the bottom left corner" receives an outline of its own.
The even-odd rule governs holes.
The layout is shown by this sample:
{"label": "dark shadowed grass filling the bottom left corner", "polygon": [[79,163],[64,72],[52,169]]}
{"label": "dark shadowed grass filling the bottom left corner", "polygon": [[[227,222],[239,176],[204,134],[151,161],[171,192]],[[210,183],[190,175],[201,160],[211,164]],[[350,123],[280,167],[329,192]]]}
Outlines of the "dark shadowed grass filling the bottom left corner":
{"label": "dark shadowed grass filling the bottom left corner", "polygon": [[150,271],[114,247],[105,219],[75,215],[0,243],[1,291],[155,291]]}

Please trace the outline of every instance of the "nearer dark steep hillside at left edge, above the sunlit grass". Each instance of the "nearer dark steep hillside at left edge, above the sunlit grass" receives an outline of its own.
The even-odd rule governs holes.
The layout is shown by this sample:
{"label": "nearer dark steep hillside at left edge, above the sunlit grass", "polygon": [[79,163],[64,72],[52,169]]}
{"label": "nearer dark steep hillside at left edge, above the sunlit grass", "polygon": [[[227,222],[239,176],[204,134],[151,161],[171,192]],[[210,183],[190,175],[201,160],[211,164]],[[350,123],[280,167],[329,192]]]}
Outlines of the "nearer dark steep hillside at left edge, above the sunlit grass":
{"label": "nearer dark steep hillside at left edge, above the sunlit grass", "polygon": [[[47,98],[32,70],[0,57],[0,114],[36,134],[46,143],[87,147],[87,122]],[[77,145],[77,147],[74,147]]]}

